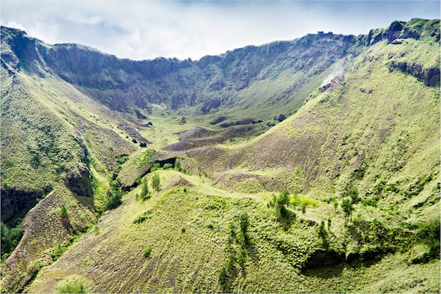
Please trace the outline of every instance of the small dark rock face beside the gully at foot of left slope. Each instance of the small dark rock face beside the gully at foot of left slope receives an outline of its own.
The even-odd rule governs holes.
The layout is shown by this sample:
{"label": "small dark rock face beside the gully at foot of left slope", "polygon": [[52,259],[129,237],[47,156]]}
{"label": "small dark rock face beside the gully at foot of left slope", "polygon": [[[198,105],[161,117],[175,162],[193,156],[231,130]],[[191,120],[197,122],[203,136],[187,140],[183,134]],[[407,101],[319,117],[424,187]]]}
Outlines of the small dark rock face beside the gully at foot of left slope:
{"label": "small dark rock face beside the gully at foot of left slope", "polygon": [[70,168],[66,176],[66,183],[69,190],[78,196],[91,196],[93,194],[90,171],[82,164]]}

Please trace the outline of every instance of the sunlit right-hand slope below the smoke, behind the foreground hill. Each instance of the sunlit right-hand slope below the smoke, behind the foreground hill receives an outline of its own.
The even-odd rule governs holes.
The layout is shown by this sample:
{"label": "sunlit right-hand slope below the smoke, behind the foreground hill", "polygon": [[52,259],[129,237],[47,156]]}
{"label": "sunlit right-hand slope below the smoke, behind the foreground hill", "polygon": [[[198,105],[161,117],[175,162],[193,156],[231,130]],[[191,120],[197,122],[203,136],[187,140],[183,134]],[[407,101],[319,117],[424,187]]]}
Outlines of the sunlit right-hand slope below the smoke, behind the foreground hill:
{"label": "sunlit right-hand slope below the smoke, behind the foreground hill", "polygon": [[[438,182],[440,91],[411,75],[390,72],[391,52],[406,49],[375,44],[335,81],[335,89],[313,92],[297,114],[265,135],[237,147],[187,154],[210,173],[298,168],[307,190],[342,192],[355,186],[371,195],[379,183],[397,182],[404,191],[421,178]],[[431,52],[439,61],[437,51]]]}

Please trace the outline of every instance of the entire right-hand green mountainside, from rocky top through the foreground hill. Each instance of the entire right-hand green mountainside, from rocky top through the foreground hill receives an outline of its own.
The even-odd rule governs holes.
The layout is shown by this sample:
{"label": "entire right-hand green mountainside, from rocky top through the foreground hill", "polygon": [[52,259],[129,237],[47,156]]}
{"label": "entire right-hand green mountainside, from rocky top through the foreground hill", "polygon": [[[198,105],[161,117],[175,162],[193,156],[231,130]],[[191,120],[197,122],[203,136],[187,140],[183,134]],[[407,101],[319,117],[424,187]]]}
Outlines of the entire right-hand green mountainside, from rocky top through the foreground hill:
{"label": "entire right-hand green mountainside, from rocky top through the foreground hill", "polygon": [[254,140],[129,159],[190,175],[156,171],[163,192],[129,192],[29,290],[437,292],[439,20],[391,27]]}

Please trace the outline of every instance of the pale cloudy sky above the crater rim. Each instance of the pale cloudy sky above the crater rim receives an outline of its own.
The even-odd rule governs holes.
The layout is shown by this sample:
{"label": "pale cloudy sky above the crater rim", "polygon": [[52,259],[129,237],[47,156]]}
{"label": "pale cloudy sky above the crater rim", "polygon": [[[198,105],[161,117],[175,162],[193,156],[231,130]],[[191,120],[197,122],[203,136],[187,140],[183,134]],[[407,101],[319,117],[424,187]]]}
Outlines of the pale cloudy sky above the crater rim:
{"label": "pale cloudy sky above the crater rim", "polygon": [[317,30],[367,34],[393,20],[440,18],[440,1],[1,0],[1,25],[49,44],[120,58],[196,60]]}

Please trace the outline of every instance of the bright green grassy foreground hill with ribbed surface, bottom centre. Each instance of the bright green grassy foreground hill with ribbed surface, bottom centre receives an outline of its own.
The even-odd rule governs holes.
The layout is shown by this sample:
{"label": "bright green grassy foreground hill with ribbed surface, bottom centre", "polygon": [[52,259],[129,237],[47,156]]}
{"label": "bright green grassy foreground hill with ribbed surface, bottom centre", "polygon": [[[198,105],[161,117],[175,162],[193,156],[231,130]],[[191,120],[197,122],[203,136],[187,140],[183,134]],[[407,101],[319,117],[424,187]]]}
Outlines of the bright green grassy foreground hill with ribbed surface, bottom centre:
{"label": "bright green grassy foreground hill with ribbed surface, bottom centre", "polygon": [[[300,221],[307,215],[284,231],[261,200],[208,192],[198,178],[175,171],[160,174],[170,190],[144,203],[135,201],[139,188],[130,192],[122,207],[102,216],[97,230],[82,236],[57,262],[42,269],[29,291],[56,292],[57,283],[73,275],[90,293],[219,291],[218,271],[228,256],[228,224],[233,221],[237,226],[240,212],[249,214],[254,241],[247,250],[244,271],[236,264],[231,292],[432,292],[440,286],[439,262],[409,267],[405,254],[300,271],[304,258],[321,247],[316,226]],[[185,188],[187,192],[182,186],[173,187],[182,183],[179,177],[194,187]],[[147,215],[144,222],[133,223],[143,214]],[[337,230],[338,225],[331,231]],[[296,250],[287,253],[284,246]],[[147,247],[152,248],[149,258],[142,254]]]}

